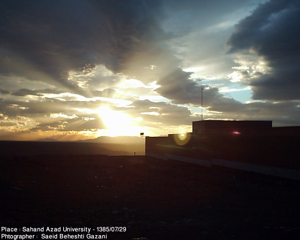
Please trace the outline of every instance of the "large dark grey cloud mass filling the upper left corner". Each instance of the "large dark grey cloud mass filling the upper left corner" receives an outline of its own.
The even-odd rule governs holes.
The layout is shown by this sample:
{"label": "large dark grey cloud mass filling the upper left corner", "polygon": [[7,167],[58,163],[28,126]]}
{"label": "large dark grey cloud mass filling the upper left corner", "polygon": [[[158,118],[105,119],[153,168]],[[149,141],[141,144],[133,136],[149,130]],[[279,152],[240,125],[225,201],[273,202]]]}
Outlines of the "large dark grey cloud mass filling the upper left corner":
{"label": "large dark grey cloud mass filling the upper left corner", "polygon": [[[155,9],[155,13],[154,10]],[[105,64],[114,73],[161,18],[158,1],[5,1],[0,74],[56,82],[82,93],[69,70]],[[36,79],[36,75],[44,79]]]}

